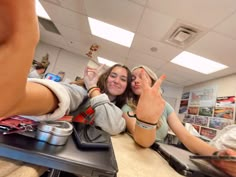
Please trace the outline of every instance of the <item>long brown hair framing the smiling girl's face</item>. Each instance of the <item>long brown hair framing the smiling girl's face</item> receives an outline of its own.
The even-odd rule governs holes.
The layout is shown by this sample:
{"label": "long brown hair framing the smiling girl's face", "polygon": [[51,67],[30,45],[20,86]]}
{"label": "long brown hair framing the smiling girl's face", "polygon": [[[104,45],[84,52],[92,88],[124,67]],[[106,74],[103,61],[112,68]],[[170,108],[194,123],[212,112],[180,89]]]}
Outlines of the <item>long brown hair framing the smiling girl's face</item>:
{"label": "long brown hair framing the smiling girl's face", "polygon": [[111,74],[111,71],[116,67],[124,68],[127,71],[127,87],[124,93],[121,95],[118,95],[115,99],[115,105],[121,108],[124,104],[126,104],[127,99],[131,97],[131,94],[132,94],[131,92],[132,75],[131,75],[131,71],[129,70],[127,66],[121,65],[121,64],[113,65],[99,77],[97,86],[101,89],[101,92],[108,94],[108,89],[107,89],[107,84],[106,84],[107,79],[108,79],[108,76]]}

